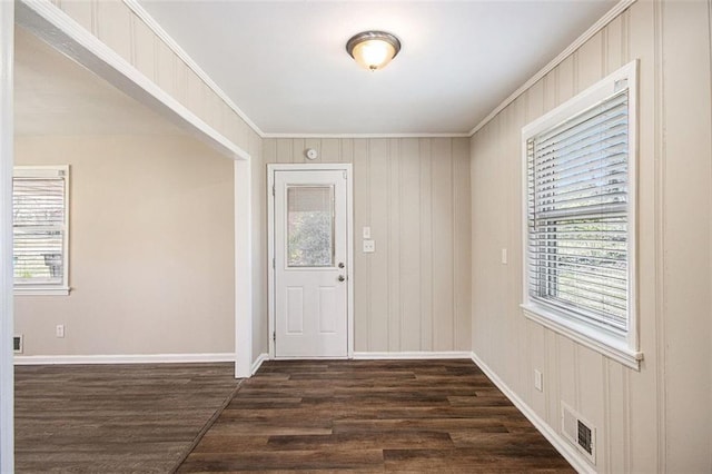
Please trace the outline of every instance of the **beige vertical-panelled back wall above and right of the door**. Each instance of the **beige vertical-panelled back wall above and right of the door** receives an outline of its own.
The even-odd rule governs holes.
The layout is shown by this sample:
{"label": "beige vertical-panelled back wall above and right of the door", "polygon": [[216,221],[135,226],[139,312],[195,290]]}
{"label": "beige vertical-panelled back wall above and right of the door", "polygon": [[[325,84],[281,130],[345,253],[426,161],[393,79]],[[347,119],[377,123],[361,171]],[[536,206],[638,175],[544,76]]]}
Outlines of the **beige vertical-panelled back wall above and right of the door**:
{"label": "beige vertical-panelled back wall above and right of the door", "polygon": [[265,162],[306,162],[309,147],[354,165],[355,350],[469,350],[468,140],[266,139]]}

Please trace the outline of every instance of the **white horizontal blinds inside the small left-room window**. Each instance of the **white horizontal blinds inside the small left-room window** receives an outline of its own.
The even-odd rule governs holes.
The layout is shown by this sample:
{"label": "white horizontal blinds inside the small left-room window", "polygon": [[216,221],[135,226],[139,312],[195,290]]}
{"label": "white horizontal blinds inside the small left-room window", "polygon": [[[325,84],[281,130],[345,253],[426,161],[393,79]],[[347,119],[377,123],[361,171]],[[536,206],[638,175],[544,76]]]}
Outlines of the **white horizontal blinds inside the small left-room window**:
{"label": "white horizontal blinds inside the small left-room window", "polygon": [[16,284],[62,283],[66,181],[57,174],[12,180]]}

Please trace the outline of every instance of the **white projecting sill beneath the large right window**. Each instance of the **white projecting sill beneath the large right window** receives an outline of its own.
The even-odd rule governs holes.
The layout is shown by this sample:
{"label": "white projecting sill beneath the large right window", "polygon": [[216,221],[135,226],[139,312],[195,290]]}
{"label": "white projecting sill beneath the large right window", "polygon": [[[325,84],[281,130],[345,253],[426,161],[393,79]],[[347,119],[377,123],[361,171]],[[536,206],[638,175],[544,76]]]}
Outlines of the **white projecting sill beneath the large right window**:
{"label": "white projecting sill beneath the large right window", "polygon": [[523,304],[521,307],[528,319],[627,367],[635,371],[641,369],[640,363],[643,359],[643,353],[631,349],[624,338],[606,334],[602,329],[567,318],[538,305]]}

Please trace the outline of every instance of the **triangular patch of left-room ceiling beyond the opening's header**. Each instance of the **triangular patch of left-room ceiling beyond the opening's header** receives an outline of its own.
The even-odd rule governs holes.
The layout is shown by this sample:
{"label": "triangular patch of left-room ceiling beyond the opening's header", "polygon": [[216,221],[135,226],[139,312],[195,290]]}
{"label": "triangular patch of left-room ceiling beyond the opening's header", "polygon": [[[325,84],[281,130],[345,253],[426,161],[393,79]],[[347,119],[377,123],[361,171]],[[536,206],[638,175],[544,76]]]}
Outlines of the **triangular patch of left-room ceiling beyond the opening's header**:
{"label": "triangular patch of left-room ceiling beyond the opening's header", "polygon": [[19,27],[14,34],[14,132],[20,136],[184,134]]}

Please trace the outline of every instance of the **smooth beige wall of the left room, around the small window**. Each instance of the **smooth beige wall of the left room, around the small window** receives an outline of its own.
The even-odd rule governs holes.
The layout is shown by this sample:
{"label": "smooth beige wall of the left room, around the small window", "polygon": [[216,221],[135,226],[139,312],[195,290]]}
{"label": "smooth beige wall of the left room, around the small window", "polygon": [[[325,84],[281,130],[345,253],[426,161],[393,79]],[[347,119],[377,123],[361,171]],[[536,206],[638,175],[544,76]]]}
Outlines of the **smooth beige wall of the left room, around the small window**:
{"label": "smooth beige wall of the left room, around the small window", "polygon": [[180,136],[78,136],[16,137],[16,164],[71,166],[72,292],[16,297],[24,355],[234,353],[231,160]]}

